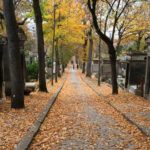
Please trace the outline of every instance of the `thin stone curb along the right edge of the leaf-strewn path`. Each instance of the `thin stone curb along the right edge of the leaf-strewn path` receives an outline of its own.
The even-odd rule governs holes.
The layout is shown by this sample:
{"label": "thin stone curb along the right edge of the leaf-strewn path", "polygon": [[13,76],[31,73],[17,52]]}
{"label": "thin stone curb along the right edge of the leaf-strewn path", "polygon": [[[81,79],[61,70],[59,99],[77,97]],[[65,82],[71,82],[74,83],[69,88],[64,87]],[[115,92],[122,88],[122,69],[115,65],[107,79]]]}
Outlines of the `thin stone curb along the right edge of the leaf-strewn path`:
{"label": "thin stone curb along the right edge of the leaf-strewn path", "polygon": [[[102,93],[98,93],[89,83],[87,83],[82,77],[82,81],[87,84],[89,88],[91,88],[98,96],[101,96],[102,98],[106,99],[107,97],[104,96]],[[108,99],[108,98],[107,98]],[[106,102],[106,101],[105,101]],[[118,108],[116,108],[111,102],[106,102],[108,105],[110,105],[112,108],[114,108],[117,112],[119,112],[125,120],[127,120],[132,125],[136,126],[142,134],[144,134],[147,137],[150,137],[150,133],[147,133],[145,129],[141,128],[136,122],[134,122],[132,119],[130,119],[127,115],[122,113]]]}

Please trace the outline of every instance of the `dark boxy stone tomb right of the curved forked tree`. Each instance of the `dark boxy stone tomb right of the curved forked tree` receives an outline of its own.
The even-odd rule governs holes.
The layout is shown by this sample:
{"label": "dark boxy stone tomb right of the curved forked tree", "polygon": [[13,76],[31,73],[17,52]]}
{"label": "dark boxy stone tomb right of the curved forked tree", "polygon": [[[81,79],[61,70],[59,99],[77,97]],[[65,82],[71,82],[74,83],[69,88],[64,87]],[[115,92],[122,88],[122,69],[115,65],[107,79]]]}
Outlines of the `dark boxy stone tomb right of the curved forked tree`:
{"label": "dark boxy stone tomb right of the curved forked tree", "polygon": [[136,86],[137,94],[143,96],[147,54],[134,52],[128,56],[130,56],[130,60],[126,61],[125,88]]}

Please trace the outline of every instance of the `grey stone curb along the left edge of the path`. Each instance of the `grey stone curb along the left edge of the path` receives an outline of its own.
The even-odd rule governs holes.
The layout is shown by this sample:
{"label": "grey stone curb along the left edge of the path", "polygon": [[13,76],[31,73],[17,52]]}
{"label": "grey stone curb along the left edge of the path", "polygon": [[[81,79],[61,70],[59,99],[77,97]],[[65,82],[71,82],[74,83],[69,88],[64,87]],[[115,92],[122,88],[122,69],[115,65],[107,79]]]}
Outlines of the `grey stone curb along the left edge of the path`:
{"label": "grey stone curb along the left edge of the path", "polygon": [[49,113],[50,109],[52,108],[53,104],[55,103],[60,91],[62,90],[63,86],[65,84],[65,81],[61,85],[61,87],[57,90],[57,92],[52,96],[50,101],[47,103],[46,107],[43,109],[43,111],[38,116],[37,120],[33,124],[33,126],[29,129],[29,131],[25,134],[25,136],[21,139],[19,144],[17,145],[15,150],[27,150],[32,143],[34,137],[38,133],[42,123],[44,122],[47,114]]}

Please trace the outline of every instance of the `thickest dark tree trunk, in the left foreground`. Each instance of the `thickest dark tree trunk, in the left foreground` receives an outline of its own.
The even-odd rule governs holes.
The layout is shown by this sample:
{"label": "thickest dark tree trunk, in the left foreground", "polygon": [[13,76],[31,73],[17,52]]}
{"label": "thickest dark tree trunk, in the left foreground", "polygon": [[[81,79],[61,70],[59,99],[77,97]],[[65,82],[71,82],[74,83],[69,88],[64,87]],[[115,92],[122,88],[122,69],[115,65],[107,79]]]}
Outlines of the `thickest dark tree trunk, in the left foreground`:
{"label": "thickest dark tree trunk, in the left foreground", "polygon": [[8,35],[9,66],[11,76],[11,107],[24,108],[24,79],[21,67],[19,37],[13,0],[3,0],[6,30]]}

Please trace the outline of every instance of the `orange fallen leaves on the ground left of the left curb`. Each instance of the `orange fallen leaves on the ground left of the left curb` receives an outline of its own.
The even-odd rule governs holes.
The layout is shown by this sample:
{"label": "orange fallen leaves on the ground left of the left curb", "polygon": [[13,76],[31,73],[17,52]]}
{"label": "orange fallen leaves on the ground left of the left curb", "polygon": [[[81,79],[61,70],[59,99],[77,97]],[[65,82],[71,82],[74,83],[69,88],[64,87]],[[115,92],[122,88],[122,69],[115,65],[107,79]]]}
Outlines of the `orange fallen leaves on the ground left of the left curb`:
{"label": "orange fallen leaves on the ground left of the left curb", "polygon": [[48,81],[49,93],[34,92],[25,97],[25,109],[10,108],[10,99],[0,104],[0,150],[12,150],[33,125],[48,100],[62,84],[64,78],[52,87]]}

